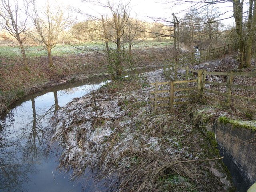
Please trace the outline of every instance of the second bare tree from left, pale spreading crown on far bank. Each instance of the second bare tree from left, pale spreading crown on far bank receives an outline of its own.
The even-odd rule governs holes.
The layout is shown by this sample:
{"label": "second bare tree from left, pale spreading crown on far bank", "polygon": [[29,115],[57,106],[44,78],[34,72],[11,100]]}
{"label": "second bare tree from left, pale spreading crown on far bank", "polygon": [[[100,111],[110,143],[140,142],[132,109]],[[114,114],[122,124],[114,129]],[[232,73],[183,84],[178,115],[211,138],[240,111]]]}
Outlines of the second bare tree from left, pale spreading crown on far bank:
{"label": "second bare tree from left, pale spreading crown on far bank", "polygon": [[65,16],[60,6],[53,6],[48,0],[45,9],[41,12],[37,9],[36,0],[31,0],[31,2],[33,4],[31,18],[38,34],[33,34],[32,36],[47,50],[49,66],[52,67],[54,65],[52,60],[52,48],[68,36],[68,32],[65,32],[65,30],[74,20],[72,20],[69,15]]}

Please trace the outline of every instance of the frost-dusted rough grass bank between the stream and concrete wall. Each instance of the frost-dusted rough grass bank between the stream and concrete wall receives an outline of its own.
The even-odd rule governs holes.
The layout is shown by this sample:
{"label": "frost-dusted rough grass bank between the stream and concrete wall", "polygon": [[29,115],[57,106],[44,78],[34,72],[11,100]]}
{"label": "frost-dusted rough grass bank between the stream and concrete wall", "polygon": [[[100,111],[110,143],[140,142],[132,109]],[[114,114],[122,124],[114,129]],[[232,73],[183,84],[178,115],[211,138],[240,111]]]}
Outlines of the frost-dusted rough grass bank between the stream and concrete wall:
{"label": "frost-dusted rough grass bank between the stream and concrete wall", "polygon": [[73,178],[90,168],[114,191],[226,191],[226,179],[198,161],[216,156],[186,110],[153,113],[155,81],[167,81],[162,70],[111,82],[61,108],[52,135],[64,147],[60,168],[72,168]]}

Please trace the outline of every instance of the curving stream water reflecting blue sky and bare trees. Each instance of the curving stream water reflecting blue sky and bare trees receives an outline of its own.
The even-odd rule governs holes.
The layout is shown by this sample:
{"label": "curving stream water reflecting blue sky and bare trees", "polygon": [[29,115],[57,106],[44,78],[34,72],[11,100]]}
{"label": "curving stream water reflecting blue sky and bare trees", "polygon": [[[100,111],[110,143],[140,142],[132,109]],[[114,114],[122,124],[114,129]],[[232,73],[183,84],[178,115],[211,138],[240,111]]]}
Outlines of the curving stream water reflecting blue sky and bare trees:
{"label": "curving stream water reflecting blue sky and bare trees", "polygon": [[[140,73],[152,70],[156,68]],[[51,118],[59,108],[73,98],[88,94],[91,85],[98,89],[104,82],[105,78],[90,78],[48,88],[19,100],[8,113],[0,116],[1,192],[94,192],[107,189],[104,180],[96,183],[91,175],[72,180],[72,170],[59,170],[62,148],[50,141],[49,134]]]}

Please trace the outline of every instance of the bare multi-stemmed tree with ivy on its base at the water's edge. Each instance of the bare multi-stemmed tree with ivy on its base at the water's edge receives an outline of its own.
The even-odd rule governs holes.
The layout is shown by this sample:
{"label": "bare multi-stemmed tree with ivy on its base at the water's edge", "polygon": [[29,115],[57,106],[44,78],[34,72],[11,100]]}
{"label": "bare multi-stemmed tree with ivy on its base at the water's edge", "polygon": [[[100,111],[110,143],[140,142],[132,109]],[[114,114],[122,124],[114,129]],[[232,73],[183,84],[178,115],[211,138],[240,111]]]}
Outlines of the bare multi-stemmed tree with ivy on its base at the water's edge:
{"label": "bare multi-stemmed tree with ivy on its base at the water's edge", "polygon": [[[124,30],[130,17],[128,5],[129,2],[126,4],[125,2],[122,3],[121,0],[117,3],[107,0],[105,4],[98,0],[94,2],[94,6],[105,8],[107,14],[95,16],[79,10],[81,14],[89,19],[86,22],[76,24],[72,28],[74,31],[73,35],[75,36],[74,43],[76,43],[73,46],[80,50],[105,55],[108,62],[106,67],[112,79],[118,79],[122,76],[122,63],[124,62],[125,52],[121,49],[121,45]],[[81,26],[86,31],[86,36],[80,36]],[[84,34],[83,30],[82,34]],[[76,39],[80,42],[76,42]],[[92,48],[84,43],[88,41],[96,44],[96,46]]]}

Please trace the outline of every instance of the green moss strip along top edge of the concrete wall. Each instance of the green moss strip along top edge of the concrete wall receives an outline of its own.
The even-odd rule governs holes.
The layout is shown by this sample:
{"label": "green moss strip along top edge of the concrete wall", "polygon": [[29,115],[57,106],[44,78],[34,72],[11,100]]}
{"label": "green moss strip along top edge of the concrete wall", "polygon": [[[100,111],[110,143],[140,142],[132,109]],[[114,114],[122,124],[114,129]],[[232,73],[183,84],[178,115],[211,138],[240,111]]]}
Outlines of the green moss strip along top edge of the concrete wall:
{"label": "green moss strip along top edge of the concrete wall", "polygon": [[251,129],[252,131],[256,131],[255,121],[232,120],[225,116],[219,117],[218,120],[225,125],[232,124],[233,128]]}

